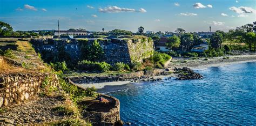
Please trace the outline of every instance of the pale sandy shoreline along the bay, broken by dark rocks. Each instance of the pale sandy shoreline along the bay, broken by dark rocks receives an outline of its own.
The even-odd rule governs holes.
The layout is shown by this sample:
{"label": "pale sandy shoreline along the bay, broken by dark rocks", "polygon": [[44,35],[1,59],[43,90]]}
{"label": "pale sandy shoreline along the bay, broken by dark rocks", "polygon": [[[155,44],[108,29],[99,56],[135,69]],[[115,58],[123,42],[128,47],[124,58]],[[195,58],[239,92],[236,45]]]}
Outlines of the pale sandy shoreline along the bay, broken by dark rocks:
{"label": "pale sandy shoreline along the bay, broken by dark rocks", "polygon": [[[225,61],[224,61],[225,60]],[[178,60],[175,60],[178,61]],[[174,62],[175,62],[174,61]],[[196,61],[196,62],[195,62]],[[202,61],[202,62],[198,62]],[[203,60],[190,60],[189,62],[179,64],[183,65],[184,67],[188,67],[190,69],[205,69],[210,67],[217,67],[217,66],[224,66],[224,65],[232,65],[232,64],[240,64],[240,63],[247,63],[247,62],[256,62],[256,55],[239,55],[239,56],[230,56],[228,59],[223,59],[221,57],[218,58],[211,58],[207,61]],[[173,62],[169,64],[169,68],[173,69],[174,67],[183,67],[179,65],[173,65],[170,67],[170,65],[173,65]],[[166,80],[167,78],[176,78],[175,74],[171,75],[161,75],[161,76],[154,76],[153,78],[160,80]],[[93,84],[79,84],[79,86],[82,87],[95,87],[97,88],[98,92],[100,93],[107,93],[112,91],[119,91],[119,90],[125,90],[126,88],[131,88],[138,85],[143,85],[139,83],[147,83],[148,81],[112,81],[112,82],[105,82],[105,83],[93,83]]]}

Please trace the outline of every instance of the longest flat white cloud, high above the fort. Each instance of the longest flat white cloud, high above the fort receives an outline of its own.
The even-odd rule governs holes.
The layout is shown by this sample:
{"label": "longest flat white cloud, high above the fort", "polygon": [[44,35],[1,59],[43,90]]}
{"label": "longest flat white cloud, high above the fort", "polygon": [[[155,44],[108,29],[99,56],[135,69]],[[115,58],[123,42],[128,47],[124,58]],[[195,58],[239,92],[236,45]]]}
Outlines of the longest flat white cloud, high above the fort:
{"label": "longest flat white cloud, high above the fort", "polygon": [[142,13],[145,13],[145,12],[147,12],[143,8],[140,8],[139,10],[135,10],[135,9],[129,9],[129,8],[119,8],[118,6],[107,6],[104,9],[99,8],[98,11],[102,12],[102,13],[119,13],[119,12],[142,12]]}

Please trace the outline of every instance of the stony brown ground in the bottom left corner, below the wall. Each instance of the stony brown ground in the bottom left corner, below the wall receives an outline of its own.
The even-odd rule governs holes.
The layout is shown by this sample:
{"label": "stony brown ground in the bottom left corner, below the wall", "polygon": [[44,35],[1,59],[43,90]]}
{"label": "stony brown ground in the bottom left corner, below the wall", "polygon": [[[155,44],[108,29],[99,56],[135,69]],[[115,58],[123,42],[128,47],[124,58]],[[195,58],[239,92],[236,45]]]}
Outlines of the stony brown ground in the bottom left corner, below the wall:
{"label": "stony brown ground in the bottom left corner, below the wall", "polygon": [[4,108],[5,112],[0,113],[1,122],[5,124],[31,124],[61,120],[64,116],[52,112],[52,108],[60,103],[58,97],[36,98],[21,105]]}

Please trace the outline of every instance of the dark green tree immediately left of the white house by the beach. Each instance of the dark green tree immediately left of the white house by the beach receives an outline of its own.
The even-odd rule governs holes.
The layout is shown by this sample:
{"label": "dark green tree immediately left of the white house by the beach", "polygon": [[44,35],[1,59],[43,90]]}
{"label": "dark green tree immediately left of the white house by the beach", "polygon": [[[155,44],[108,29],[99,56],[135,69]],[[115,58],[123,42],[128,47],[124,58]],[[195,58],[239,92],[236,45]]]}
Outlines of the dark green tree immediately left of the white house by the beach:
{"label": "dark green tree immediately left of the white house by the beach", "polygon": [[185,33],[181,35],[180,41],[180,46],[182,47],[183,51],[190,50],[194,43],[193,34]]}

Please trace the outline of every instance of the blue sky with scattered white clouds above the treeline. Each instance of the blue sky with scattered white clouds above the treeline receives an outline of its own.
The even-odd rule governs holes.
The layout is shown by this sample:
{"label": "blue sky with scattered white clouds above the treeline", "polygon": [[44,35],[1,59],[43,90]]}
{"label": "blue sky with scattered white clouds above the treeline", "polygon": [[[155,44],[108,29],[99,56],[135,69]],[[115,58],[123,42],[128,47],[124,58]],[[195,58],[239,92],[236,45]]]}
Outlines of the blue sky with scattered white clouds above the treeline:
{"label": "blue sky with scattered white clouds above the treeline", "polygon": [[85,28],[208,32],[256,21],[256,0],[0,0],[0,21],[15,31]]}

